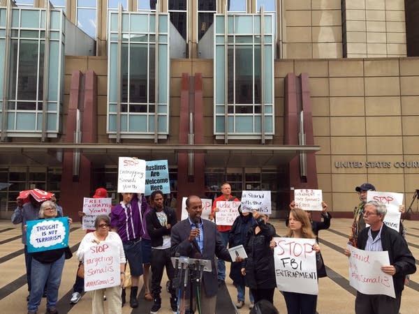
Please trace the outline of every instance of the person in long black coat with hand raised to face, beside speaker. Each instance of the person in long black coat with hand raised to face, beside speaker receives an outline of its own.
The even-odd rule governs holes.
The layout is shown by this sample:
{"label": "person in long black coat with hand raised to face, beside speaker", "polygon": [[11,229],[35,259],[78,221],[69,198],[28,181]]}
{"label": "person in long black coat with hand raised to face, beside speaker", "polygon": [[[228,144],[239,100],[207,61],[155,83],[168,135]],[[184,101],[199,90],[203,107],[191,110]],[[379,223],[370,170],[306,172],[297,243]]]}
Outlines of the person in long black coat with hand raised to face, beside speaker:
{"label": "person in long black coat with hand raised to face, beside speaker", "polygon": [[253,211],[256,223],[247,232],[244,250],[247,259],[242,262],[242,275],[253,294],[255,303],[265,299],[274,303],[275,280],[274,251],[270,241],[275,236],[275,228],[267,223],[269,216]]}

